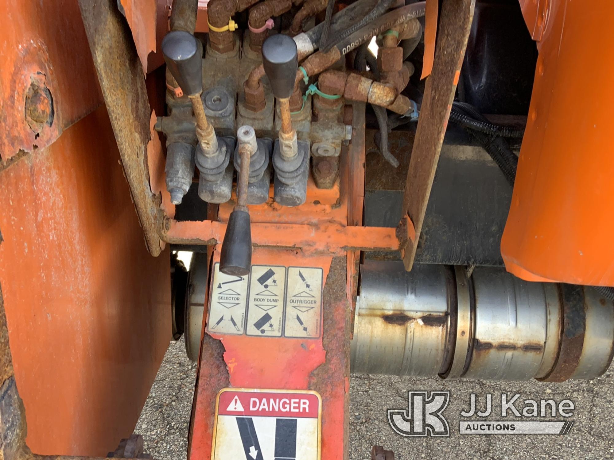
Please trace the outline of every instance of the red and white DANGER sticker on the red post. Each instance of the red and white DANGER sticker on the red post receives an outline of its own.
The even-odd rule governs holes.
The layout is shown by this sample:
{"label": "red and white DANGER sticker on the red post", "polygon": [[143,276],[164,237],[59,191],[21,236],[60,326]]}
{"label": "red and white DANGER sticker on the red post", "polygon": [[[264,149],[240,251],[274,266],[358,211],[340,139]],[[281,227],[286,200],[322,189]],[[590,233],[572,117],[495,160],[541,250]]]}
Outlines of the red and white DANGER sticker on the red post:
{"label": "red and white DANGER sticker on the red post", "polygon": [[211,458],[318,460],[321,405],[315,391],[222,389]]}

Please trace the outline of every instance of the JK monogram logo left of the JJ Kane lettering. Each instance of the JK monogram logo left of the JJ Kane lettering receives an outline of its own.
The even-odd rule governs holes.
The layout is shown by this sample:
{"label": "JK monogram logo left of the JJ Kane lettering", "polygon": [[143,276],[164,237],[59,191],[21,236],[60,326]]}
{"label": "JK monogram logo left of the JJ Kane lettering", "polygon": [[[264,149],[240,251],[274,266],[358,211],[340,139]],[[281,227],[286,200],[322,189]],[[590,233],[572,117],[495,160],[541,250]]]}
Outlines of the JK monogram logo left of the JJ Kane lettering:
{"label": "JK monogram logo left of the JJ Kane lettering", "polygon": [[448,406],[449,391],[408,392],[409,407],[389,409],[388,423],[402,436],[449,436],[448,421],[441,413]]}

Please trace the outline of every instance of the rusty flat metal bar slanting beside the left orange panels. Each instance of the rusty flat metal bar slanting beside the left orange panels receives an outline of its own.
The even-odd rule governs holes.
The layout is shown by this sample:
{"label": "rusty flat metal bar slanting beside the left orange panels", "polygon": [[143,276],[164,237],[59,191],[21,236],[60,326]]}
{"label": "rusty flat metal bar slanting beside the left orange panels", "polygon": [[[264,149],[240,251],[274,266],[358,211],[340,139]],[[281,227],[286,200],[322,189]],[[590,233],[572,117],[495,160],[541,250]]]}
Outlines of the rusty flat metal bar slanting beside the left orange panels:
{"label": "rusty flat metal bar slanting beside the left orange panels", "polygon": [[82,0],[79,6],[147,248],[157,256],[163,248],[157,232],[160,197],[149,187],[151,109],[141,62],[113,0]]}

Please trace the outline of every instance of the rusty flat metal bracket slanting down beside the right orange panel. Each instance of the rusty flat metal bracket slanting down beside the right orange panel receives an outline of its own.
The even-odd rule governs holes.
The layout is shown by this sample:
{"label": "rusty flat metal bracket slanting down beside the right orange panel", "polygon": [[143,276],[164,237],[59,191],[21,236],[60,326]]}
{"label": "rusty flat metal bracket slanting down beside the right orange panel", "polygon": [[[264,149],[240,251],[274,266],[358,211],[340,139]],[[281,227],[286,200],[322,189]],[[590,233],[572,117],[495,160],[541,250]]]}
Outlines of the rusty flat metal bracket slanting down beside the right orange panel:
{"label": "rusty flat metal bracket slanting down beside the right orange panel", "polygon": [[411,270],[416,257],[430,189],[467,48],[474,7],[475,0],[444,0],[441,7],[433,71],[426,80],[403,196],[402,218],[408,217],[413,222],[416,234],[413,239],[407,239],[401,248],[406,270]]}

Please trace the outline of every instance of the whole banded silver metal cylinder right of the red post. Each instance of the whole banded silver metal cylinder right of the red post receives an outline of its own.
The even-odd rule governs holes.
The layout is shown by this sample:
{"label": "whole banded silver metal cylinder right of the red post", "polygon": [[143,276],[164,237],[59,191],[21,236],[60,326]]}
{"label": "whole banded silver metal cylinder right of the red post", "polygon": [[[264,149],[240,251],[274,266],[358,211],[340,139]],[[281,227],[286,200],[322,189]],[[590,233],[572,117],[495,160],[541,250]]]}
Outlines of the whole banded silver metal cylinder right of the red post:
{"label": "whole banded silver metal cylinder right of the red post", "polygon": [[365,261],[354,372],[563,381],[610,365],[614,305],[594,289],[528,283],[500,267],[476,267],[469,278],[452,268]]}

